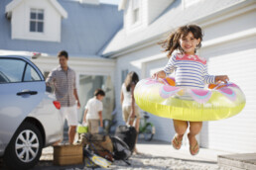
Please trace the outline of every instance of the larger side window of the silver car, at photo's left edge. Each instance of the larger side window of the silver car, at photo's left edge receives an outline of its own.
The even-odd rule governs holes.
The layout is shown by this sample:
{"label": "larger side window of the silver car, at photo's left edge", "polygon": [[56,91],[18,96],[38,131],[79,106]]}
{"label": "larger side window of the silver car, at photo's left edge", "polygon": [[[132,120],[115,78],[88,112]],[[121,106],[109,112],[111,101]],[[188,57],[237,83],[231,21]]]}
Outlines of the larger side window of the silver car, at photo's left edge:
{"label": "larger side window of the silver car, at photo's left edge", "polygon": [[21,82],[26,62],[0,58],[0,83]]}

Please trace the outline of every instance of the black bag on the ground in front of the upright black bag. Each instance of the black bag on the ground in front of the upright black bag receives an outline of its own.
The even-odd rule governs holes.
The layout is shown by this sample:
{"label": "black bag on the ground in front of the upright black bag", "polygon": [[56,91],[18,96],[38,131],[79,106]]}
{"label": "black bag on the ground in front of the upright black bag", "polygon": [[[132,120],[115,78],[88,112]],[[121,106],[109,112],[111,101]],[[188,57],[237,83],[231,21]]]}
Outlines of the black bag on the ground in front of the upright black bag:
{"label": "black bag on the ground in front of the upright black bag", "polygon": [[130,150],[129,146],[117,136],[110,138],[113,144],[114,159],[123,161],[127,160],[132,155],[132,151]]}

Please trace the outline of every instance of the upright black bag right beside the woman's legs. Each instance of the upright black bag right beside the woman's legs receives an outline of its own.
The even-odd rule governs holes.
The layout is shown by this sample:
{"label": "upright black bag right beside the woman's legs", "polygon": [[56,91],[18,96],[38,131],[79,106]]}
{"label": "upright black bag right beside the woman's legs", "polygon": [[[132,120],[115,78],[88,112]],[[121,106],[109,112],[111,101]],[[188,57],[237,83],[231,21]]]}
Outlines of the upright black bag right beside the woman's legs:
{"label": "upright black bag right beside the woman's legs", "polygon": [[123,140],[133,152],[137,138],[137,130],[131,126],[119,126],[116,128],[115,136]]}

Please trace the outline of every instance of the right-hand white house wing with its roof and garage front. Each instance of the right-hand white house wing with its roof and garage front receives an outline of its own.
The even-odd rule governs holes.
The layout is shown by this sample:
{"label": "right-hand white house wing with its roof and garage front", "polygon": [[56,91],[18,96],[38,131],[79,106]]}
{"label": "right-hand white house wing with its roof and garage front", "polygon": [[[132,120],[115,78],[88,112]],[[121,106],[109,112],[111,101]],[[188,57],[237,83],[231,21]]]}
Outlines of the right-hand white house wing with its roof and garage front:
{"label": "right-hand white house wing with its roof and garage front", "polygon": [[[116,105],[124,76],[136,71],[150,77],[168,61],[157,42],[179,26],[197,24],[204,37],[199,55],[205,57],[210,74],[227,74],[246,96],[244,110],[230,119],[204,122],[201,147],[231,152],[256,151],[256,1],[255,0],[122,0],[124,27],[103,49],[116,59]],[[121,118],[119,118],[121,119]],[[154,137],[171,141],[172,120],[151,115]]]}

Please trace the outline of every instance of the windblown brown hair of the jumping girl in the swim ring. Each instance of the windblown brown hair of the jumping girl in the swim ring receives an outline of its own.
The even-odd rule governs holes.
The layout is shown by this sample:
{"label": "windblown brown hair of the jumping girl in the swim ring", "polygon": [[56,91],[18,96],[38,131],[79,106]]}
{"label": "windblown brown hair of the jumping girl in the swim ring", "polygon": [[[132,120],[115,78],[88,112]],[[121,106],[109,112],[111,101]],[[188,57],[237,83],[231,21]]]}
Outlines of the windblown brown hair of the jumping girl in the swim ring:
{"label": "windblown brown hair of the jumping girl in the swim ring", "polygon": [[[186,25],[171,33],[165,41],[159,42],[159,44],[161,44],[161,46],[164,48],[164,52],[168,52],[167,56],[169,58],[176,49],[179,49],[182,53],[184,53],[184,49],[180,45],[180,39],[187,37],[190,32],[192,32],[194,39],[200,39],[200,42],[202,41],[203,34],[201,28],[196,25]],[[201,46],[200,42],[197,45],[198,48]]]}

